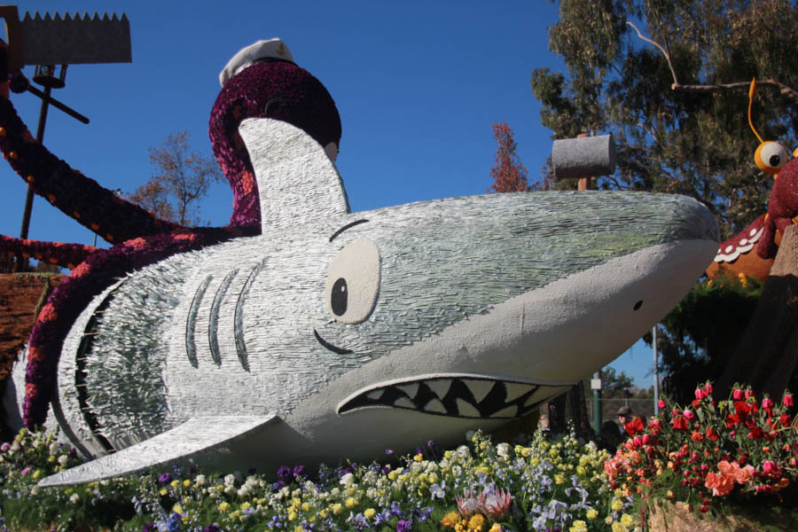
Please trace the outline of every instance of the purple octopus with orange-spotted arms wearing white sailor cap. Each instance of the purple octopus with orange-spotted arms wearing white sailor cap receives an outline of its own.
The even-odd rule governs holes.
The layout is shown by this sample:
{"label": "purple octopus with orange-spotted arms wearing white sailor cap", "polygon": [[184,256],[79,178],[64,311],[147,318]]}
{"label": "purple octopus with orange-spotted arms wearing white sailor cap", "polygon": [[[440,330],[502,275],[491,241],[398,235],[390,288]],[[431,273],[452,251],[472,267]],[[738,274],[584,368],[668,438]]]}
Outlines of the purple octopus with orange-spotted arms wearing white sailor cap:
{"label": "purple octopus with orange-spotted arms wearing white sailor cap", "polygon": [[[0,79],[8,80],[6,48],[0,56]],[[17,90],[20,86],[24,90],[27,80],[20,73],[12,73],[11,79],[15,92],[21,91]],[[41,309],[30,335],[23,404],[26,426],[43,424],[54,392],[61,344],[92,298],[129,272],[168,256],[260,234],[258,188],[239,137],[241,121],[263,117],[286,121],[324,146],[333,160],[337,155],[338,109],[325,86],[293,62],[279,39],[239,51],[220,74],[220,82],[222,90],[211,110],[208,134],[233,192],[230,224],[224,227],[184,227],[161,220],[83,176],[35,141],[8,98],[9,82],[4,83],[0,94],[4,158],[36,194],[113,245],[100,249],[0,235],[2,253],[35,257],[72,270]]]}

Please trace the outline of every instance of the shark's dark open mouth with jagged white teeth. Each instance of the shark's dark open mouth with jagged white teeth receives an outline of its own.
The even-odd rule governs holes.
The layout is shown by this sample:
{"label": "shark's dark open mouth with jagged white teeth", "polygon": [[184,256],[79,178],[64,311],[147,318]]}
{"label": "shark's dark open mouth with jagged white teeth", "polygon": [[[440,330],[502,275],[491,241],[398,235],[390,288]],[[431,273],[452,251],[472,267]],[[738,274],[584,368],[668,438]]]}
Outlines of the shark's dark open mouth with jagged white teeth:
{"label": "shark's dark open mouth with jagged white teeth", "polygon": [[338,413],[366,408],[398,408],[467,419],[514,419],[527,416],[570,382],[520,382],[486,376],[431,376],[393,381],[350,396]]}

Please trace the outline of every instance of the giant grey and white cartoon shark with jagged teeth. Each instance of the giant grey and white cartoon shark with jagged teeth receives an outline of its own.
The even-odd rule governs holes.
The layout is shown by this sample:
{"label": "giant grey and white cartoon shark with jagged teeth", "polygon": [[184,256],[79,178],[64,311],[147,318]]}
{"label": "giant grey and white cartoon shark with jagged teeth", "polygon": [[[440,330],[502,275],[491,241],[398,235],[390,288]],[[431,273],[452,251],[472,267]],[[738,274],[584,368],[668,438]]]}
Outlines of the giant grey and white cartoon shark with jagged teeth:
{"label": "giant grey and white cartoon shark with jagged teeth", "polygon": [[[250,63],[231,81],[265,67]],[[337,139],[289,122],[260,106],[228,128],[254,175],[242,186],[256,189],[257,231],[242,223],[235,237],[126,266],[66,326],[51,411],[97,458],[43,485],[177,462],[369,459],[492,430],[638,340],[717,248],[706,207],[662,194],[489,194],[352,213]]]}

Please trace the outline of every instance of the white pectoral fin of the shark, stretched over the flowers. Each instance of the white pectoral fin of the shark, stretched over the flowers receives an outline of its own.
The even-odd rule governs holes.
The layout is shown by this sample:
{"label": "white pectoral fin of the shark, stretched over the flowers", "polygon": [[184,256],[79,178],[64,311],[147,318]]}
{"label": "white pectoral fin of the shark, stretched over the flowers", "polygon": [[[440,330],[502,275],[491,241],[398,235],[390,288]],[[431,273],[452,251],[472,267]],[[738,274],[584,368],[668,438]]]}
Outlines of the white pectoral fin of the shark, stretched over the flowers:
{"label": "white pectoral fin of the shark, stretched over the flowers", "polygon": [[40,486],[62,486],[99,481],[138,473],[176,462],[193,462],[209,452],[219,452],[233,442],[259,433],[278,421],[277,416],[207,416],[192,418],[163,434],[132,447],[53,474]]}

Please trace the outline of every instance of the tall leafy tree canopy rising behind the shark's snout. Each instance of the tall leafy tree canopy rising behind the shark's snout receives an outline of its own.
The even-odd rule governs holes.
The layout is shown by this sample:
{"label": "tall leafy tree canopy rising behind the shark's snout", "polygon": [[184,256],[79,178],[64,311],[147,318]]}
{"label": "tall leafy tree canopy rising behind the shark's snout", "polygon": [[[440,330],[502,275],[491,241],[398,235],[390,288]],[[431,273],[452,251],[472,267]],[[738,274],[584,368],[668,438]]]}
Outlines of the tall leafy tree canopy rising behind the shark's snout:
{"label": "tall leafy tree canopy rising behind the shark's snout", "polygon": [[703,201],[727,238],[765,212],[747,90],[765,140],[798,141],[798,5],[786,0],[559,0],[549,46],[567,73],[536,68],[555,138],[612,132],[618,164],[599,188]]}

